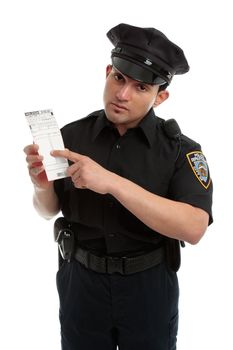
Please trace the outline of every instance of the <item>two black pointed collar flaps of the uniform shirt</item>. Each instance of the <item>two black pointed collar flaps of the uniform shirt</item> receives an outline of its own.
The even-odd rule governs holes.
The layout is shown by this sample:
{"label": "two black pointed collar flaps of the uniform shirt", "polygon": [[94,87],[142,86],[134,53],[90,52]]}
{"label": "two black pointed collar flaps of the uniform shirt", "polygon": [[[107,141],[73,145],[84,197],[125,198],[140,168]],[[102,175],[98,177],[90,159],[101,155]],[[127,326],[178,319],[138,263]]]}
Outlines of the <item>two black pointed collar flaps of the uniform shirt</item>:
{"label": "two black pointed collar flaps of the uniform shirt", "polygon": [[[98,118],[96,119],[93,129],[93,141],[104,128],[113,128],[113,125],[107,119],[104,110],[97,112],[96,116],[98,116]],[[153,108],[151,108],[138,125],[138,128],[142,130],[150,147],[152,146],[155,139],[155,130],[157,123],[158,117],[155,115]]]}

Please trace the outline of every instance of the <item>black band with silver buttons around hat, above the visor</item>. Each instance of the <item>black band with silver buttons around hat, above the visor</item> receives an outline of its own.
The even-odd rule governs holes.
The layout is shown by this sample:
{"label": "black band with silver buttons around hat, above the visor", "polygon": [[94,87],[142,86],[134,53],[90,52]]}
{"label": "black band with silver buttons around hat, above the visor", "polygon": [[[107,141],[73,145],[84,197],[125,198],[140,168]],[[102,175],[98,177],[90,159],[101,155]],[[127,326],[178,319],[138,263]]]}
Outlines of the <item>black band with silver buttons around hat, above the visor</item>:
{"label": "black band with silver buttons around hat, above the visor", "polygon": [[160,68],[157,64],[151,61],[149,58],[145,58],[143,56],[140,56],[137,53],[131,52],[128,49],[125,49],[123,47],[115,47],[111,51],[112,55],[111,57],[120,57],[125,58],[126,60],[130,60],[136,64],[139,64],[144,69],[151,71],[154,74],[157,74],[160,78],[164,80],[165,83],[170,83],[173,77],[173,74],[170,72],[165,71],[164,69]]}

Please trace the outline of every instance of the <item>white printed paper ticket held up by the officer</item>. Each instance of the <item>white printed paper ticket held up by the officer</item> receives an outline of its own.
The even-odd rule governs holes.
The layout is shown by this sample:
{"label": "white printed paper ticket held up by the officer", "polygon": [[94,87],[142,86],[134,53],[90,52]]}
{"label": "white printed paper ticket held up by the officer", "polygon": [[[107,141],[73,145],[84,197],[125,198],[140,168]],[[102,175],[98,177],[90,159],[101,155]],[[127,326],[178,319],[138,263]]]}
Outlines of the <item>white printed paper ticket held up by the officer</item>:
{"label": "white printed paper ticket held up by the officer", "polygon": [[43,165],[49,181],[66,177],[69,164],[64,158],[52,157],[54,149],[63,150],[64,143],[57,121],[51,109],[27,112],[27,118],[34,142],[39,146],[39,154],[44,157]]}

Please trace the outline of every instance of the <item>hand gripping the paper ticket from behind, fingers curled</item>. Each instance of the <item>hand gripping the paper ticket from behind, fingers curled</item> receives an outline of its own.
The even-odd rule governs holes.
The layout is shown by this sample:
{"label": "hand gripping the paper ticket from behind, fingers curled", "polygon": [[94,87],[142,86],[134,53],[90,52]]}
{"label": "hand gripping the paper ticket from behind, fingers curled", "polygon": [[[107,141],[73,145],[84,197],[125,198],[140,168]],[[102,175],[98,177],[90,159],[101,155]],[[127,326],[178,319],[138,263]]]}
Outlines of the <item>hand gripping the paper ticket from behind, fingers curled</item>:
{"label": "hand gripping the paper ticket from behind, fingers curled", "polygon": [[52,185],[52,182],[48,181],[42,164],[43,157],[39,155],[38,150],[39,146],[35,144],[28,145],[24,148],[29,175],[32,183],[37,188],[48,189]]}

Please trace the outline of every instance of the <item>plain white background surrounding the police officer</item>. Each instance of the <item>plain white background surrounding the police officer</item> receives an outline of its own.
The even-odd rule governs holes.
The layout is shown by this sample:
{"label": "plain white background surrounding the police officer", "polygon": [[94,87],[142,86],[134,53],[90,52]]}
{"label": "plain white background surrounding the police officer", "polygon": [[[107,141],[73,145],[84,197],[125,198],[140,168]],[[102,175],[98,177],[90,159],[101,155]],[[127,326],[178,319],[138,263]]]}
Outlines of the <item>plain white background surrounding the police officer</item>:
{"label": "plain white background surrounding the police officer", "polygon": [[230,0],[5,0],[0,4],[0,347],[60,348],[53,221],[31,203],[24,112],[52,108],[60,126],[102,108],[106,32],[152,26],[191,70],[156,113],[202,144],[214,181],[214,224],[183,250],[179,350],[232,346],[232,11]]}

